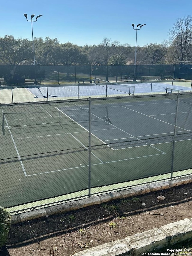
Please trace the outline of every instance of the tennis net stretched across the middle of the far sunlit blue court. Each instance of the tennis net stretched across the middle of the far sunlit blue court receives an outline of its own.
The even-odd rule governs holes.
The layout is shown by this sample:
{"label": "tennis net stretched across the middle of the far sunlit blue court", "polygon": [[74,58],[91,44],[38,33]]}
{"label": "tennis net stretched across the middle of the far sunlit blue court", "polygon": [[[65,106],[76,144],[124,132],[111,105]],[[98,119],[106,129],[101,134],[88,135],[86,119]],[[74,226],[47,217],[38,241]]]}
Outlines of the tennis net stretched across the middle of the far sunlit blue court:
{"label": "tennis net stretched across the middle of the far sunlit blue court", "polygon": [[131,85],[125,85],[125,84],[120,84],[120,83],[114,83],[114,82],[109,82],[105,81],[99,78],[94,79],[94,83],[99,86],[103,86],[106,88],[106,96],[107,96],[107,89],[112,89],[116,90],[118,92],[123,92],[123,93],[128,93],[129,95],[135,95],[135,86]]}

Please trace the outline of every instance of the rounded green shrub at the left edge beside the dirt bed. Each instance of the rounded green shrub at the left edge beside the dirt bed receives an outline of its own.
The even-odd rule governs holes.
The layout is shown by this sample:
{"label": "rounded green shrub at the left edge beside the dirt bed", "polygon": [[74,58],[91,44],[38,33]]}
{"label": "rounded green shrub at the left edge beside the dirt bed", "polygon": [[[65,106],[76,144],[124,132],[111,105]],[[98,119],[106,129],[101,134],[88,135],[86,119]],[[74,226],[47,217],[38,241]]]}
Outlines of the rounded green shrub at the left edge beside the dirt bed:
{"label": "rounded green shrub at the left edge beside the dirt bed", "polygon": [[10,214],[0,206],[0,248],[6,243],[10,228]]}

